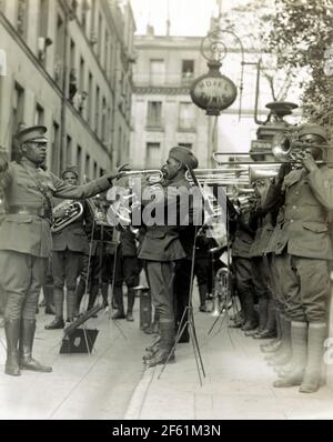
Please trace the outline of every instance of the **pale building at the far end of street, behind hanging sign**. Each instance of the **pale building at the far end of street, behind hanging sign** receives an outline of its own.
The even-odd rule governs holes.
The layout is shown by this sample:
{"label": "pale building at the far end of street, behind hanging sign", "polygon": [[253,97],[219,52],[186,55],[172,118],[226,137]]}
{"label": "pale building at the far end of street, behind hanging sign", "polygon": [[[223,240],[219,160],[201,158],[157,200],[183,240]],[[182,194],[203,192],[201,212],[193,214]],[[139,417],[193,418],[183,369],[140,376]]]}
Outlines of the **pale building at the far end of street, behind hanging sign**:
{"label": "pale building at the far end of street, behind hanging sign", "polygon": [[[214,167],[215,151],[249,152],[256,138],[254,121],[256,62],[261,54],[245,48],[243,84],[241,86],[241,48],[228,48],[221,73],[238,87],[235,102],[220,117],[208,117],[190,98],[194,79],[209,71],[201,54],[203,37],[147,34],[134,39],[134,93],[131,160],[138,168],[155,168],[175,144],[192,149],[201,168]],[[271,86],[262,74],[258,97],[258,117],[264,121],[265,104],[273,101]],[[240,118],[241,109],[241,118]]]}

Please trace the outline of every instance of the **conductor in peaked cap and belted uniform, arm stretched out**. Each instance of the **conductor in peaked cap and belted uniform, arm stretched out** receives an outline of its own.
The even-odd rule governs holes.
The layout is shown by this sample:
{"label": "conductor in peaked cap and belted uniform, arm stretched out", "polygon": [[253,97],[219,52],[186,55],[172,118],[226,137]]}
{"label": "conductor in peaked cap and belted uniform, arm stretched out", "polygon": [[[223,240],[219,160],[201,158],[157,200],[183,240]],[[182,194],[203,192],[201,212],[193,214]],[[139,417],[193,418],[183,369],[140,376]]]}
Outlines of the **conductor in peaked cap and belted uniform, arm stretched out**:
{"label": "conductor in peaked cap and belted uniform, arm stretched out", "polygon": [[89,198],[110,188],[115,178],[110,173],[77,187],[43,171],[40,167],[47,158],[46,132],[47,128],[37,125],[18,133],[17,162],[9,162],[3,151],[0,154],[0,187],[7,208],[0,227],[0,269],[7,298],[6,373],[11,375],[20,375],[20,370],[52,371],[32,358],[36,309],[52,248],[52,197]]}

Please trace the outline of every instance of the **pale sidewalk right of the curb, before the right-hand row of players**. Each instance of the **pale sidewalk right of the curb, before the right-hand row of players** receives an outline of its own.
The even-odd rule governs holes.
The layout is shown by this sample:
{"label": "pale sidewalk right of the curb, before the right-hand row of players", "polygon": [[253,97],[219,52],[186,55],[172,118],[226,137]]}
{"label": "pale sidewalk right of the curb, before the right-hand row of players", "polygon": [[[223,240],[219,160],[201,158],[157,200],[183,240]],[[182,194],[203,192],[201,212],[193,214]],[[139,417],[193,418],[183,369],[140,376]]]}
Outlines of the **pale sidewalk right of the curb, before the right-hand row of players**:
{"label": "pale sidewalk right of the curb, before the right-hand row of players", "polygon": [[214,318],[199,312],[194,318],[206,374],[203,385],[191,343],[179,344],[176,363],[168,364],[160,379],[161,365],[145,370],[125,420],[333,419],[330,388],[313,394],[300,393],[297,386],[273,388],[278,376],[260,351],[263,340],[228,328],[228,318],[220,318],[208,335]]}

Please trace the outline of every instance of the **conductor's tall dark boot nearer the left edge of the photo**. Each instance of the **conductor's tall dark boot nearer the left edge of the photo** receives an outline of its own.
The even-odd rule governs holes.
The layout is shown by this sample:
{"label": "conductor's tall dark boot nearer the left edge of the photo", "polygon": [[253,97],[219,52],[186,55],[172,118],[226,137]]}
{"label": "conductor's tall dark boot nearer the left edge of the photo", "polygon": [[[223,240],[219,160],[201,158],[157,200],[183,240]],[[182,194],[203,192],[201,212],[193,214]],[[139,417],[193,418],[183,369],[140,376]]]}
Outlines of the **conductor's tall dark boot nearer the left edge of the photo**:
{"label": "conductor's tall dark boot nearer the left edge of the photo", "polygon": [[18,358],[18,342],[20,338],[21,320],[4,320],[4,333],[7,342],[7,361],[4,366],[4,373],[11,374],[12,376],[19,376],[21,374]]}

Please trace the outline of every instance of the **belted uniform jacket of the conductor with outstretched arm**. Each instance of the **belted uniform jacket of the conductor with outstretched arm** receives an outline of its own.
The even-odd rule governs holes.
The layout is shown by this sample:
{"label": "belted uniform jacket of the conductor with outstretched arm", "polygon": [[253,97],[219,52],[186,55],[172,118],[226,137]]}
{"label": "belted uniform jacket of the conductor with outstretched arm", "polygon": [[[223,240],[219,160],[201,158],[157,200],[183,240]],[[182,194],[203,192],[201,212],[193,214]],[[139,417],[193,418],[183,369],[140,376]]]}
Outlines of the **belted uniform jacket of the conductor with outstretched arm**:
{"label": "belted uniform jacket of the conductor with outstretched arm", "polygon": [[[0,185],[7,208],[0,227],[0,250],[40,258],[48,258],[52,250],[50,220],[43,215],[49,205],[44,193],[50,194],[50,198],[80,200],[110,188],[107,177],[84,185],[71,185],[26,162],[9,163],[7,171],[0,174]],[[46,192],[41,191],[41,187]]]}

